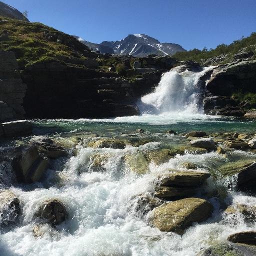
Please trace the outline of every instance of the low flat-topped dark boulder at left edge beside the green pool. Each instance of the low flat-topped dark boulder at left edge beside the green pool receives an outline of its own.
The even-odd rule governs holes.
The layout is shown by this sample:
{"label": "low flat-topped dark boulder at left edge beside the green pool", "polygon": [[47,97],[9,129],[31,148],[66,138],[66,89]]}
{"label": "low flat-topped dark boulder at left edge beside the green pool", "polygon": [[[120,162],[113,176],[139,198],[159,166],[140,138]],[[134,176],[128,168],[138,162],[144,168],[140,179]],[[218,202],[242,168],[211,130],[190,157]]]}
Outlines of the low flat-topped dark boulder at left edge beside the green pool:
{"label": "low flat-topped dark boulder at left edge beside the green pool", "polygon": [[28,135],[32,132],[32,123],[26,120],[3,122],[1,125],[7,137]]}

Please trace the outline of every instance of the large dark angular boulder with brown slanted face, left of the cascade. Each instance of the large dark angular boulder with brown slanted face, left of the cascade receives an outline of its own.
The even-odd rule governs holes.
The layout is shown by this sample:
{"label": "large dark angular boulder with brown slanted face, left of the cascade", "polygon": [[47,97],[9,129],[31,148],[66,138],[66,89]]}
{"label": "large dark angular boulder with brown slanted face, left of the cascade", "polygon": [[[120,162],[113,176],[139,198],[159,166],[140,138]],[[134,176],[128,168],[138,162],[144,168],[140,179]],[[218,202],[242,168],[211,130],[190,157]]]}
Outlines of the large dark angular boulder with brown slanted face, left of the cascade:
{"label": "large dark angular boulder with brown slanted face, left of the cascade", "polygon": [[48,166],[48,158],[40,155],[35,145],[15,149],[12,168],[19,182],[39,181]]}

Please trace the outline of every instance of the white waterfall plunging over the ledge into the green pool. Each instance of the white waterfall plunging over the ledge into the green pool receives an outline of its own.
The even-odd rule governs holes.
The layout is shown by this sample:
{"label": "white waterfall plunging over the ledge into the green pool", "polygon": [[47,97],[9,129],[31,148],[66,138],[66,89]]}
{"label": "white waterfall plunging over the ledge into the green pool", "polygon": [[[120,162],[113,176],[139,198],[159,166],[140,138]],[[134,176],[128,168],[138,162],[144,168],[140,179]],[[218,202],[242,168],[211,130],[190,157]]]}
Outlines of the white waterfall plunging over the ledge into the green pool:
{"label": "white waterfall plunging over the ledge into the green pool", "polygon": [[200,77],[210,67],[200,72],[171,70],[163,73],[152,93],[141,97],[138,107],[142,113],[162,114],[172,112],[203,113]]}

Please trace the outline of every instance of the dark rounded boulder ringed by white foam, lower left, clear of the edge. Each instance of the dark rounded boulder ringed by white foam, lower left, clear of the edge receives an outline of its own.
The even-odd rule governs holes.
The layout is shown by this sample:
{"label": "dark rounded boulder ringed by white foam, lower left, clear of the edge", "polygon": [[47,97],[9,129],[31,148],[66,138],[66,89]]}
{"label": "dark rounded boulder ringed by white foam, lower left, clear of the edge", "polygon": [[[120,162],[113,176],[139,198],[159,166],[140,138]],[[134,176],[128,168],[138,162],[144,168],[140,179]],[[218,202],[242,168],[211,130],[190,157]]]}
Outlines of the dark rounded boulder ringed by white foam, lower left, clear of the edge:
{"label": "dark rounded boulder ringed by white foam, lower left, clear of the edge", "polygon": [[48,199],[41,203],[34,217],[44,220],[51,225],[62,223],[67,217],[65,205],[58,199]]}

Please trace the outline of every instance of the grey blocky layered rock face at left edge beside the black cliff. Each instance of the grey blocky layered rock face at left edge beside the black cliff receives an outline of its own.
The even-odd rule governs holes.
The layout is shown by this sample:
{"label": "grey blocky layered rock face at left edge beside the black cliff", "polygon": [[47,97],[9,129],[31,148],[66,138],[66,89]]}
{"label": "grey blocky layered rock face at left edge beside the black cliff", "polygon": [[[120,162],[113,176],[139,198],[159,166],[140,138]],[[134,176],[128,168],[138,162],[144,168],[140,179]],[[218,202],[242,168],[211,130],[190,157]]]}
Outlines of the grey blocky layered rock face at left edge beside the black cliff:
{"label": "grey blocky layered rock face at left edge beside the black cliff", "polygon": [[20,119],[25,113],[22,104],[26,84],[16,69],[14,53],[0,50],[0,121]]}

